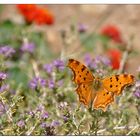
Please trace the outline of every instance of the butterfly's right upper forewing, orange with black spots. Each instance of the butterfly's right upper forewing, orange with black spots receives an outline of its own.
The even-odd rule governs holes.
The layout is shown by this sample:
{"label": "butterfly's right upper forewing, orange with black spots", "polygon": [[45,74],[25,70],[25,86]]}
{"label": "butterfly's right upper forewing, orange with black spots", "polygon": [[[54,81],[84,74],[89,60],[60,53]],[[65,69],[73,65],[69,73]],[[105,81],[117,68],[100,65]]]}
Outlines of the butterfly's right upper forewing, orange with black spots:
{"label": "butterfly's right upper forewing, orange with black spots", "polygon": [[131,74],[113,75],[102,80],[103,87],[115,95],[120,95],[124,87],[134,83],[134,76]]}

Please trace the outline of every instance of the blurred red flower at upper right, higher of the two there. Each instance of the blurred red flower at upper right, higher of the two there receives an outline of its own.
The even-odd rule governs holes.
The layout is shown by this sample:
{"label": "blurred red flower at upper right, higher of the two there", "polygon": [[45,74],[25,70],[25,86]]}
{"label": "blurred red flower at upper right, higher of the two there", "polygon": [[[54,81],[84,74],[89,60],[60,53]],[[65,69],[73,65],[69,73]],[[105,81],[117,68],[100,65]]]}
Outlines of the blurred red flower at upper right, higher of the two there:
{"label": "blurred red flower at upper right, higher of the two there", "polygon": [[114,25],[107,25],[102,28],[101,34],[107,36],[114,40],[117,43],[122,43],[121,32],[120,30]]}

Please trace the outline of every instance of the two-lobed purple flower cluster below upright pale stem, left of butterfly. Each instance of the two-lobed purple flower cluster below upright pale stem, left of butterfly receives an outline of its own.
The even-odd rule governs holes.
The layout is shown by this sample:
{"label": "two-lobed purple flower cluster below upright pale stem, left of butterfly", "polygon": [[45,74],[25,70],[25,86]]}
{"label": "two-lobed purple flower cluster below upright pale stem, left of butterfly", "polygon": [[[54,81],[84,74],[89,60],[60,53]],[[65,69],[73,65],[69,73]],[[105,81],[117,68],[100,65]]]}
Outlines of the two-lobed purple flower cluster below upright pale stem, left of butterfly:
{"label": "two-lobed purple flower cluster below upright pale stem, left of butterfly", "polygon": [[38,86],[44,87],[46,86],[46,80],[41,77],[35,77],[30,81],[29,86],[32,89],[36,89]]}

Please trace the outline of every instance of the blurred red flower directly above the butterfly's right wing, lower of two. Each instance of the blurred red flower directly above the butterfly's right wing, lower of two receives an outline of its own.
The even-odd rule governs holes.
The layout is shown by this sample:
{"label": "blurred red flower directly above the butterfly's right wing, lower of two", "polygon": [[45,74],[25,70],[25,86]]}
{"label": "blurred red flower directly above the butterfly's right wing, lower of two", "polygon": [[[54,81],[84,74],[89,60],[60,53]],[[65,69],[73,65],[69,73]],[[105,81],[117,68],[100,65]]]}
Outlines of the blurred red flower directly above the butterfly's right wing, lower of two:
{"label": "blurred red flower directly above the butterfly's right wing, lower of two", "polygon": [[109,49],[107,55],[111,60],[111,66],[113,69],[119,69],[122,52],[118,49]]}

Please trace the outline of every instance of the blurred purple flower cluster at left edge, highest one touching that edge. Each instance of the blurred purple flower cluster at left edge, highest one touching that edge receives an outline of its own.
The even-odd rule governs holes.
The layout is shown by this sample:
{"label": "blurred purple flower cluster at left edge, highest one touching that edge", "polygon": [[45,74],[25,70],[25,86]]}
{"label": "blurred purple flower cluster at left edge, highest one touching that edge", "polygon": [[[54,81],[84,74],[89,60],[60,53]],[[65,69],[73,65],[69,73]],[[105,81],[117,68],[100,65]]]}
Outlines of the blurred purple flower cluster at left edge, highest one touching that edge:
{"label": "blurred purple flower cluster at left edge, highest one touching that edge", "polygon": [[0,47],[0,54],[4,55],[5,57],[11,57],[15,53],[15,50],[10,46],[3,46]]}

